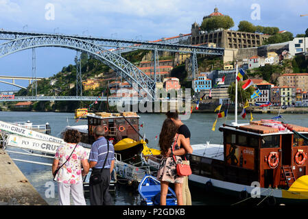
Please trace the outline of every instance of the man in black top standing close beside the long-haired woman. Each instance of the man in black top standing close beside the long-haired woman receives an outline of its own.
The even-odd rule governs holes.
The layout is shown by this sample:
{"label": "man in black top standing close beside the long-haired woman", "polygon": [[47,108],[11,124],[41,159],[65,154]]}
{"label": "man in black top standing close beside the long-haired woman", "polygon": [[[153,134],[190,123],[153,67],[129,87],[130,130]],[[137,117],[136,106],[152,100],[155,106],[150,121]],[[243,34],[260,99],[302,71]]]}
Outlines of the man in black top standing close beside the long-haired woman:
{"label": "man in black top standing close beside the long-haired woman", "polygon": [[[191,133],[190,133],[187,125],[182,123],[182,121],[178,118],[178,112],[177,111],[176,112],[167,112],[166,116],[167,116],[167,118],[171,118],[171,120],[174,121],[174,124],[176,124],[176,126],[178,127],[178,133],[185,136],[186,140],[189,142],[189,140],[191,138]],[[185,150],[185,149],[181,147],[180,150]],[[180,150],[178,150],[178,152],[180,152]],[[185,153],[185,155],[181,155],[180,157],[182,158],[183,164],[189,165],[187,153]],[[190,193],[189,187],[188,187],[188,176],[184,177],[184,181],[182,183],[182,198],[183,198],[183,204],[184,205],[191,205],[191,193]]]}

